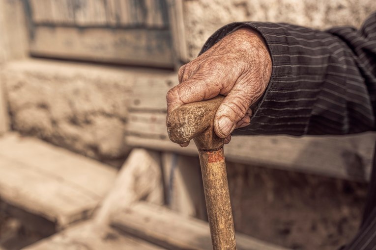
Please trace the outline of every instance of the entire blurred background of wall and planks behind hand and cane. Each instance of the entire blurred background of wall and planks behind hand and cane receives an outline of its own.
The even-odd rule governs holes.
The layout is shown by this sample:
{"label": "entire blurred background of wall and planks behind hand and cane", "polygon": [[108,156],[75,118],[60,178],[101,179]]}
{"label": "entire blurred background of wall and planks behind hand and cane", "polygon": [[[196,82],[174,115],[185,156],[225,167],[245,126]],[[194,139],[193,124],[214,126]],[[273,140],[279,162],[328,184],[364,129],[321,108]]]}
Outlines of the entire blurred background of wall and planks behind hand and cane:
{"label": "entire blurred background of wall and planks behind hand and cane", "polygon": [[[210,249],[194,145],[167,91],[219,27],[359,27],[375,0],[0,0],[0,250]],[[374,134],[225,146],[238,249],[333,250],[364,206]]]}

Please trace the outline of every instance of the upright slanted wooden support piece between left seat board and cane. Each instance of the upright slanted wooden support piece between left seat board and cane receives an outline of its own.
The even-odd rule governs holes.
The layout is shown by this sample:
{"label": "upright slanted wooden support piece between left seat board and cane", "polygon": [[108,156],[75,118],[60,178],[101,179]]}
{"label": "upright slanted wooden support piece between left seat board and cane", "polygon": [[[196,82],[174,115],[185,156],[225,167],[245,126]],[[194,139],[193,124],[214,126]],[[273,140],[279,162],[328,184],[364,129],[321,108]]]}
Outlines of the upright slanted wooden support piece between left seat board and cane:
{"label": "upright slanted wooden support piece between left seat board and cane", "polygon": [[144,149],[132,150],[95,215],[96,224],[107,225],[112,214],[141,199],[163,204],[160,162],[157,152]]}

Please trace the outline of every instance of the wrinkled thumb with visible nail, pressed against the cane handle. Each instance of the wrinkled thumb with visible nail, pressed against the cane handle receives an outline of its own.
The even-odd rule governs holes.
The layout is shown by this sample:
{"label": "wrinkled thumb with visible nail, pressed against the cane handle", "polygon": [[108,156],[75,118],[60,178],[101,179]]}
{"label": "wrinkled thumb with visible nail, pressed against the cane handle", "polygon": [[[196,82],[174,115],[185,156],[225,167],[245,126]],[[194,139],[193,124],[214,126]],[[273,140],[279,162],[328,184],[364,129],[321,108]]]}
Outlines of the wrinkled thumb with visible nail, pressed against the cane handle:
{"label": "wrinkled thumb with visible nail, pressed against the cane handle", "polygon": [[232,89],[215,114],[215,133],[221,138],[230,135],[236,124],[247,115],[250,105],[250,95],[247,95],[244,90]]}

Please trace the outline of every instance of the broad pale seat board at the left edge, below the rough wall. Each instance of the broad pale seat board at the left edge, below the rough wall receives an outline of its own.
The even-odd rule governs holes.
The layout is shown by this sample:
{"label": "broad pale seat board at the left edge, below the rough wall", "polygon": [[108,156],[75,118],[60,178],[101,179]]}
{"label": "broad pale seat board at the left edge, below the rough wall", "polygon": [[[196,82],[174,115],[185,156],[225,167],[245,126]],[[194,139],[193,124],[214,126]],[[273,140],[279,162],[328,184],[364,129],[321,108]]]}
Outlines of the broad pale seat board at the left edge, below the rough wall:
{"label": "broad pale seat board at the left edge, below the rough wall", "polygon": [[114,168],[40,140],[0,138],[0,199],[57,229],[87,219],[115,178]]}

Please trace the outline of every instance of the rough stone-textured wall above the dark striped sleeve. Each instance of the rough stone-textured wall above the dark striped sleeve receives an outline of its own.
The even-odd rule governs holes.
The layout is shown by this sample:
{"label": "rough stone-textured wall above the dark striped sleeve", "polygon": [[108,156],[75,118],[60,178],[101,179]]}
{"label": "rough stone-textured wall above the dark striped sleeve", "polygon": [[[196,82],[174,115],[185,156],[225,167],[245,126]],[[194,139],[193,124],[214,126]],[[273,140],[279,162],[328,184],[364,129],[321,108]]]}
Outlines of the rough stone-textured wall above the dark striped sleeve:
{"label": "rough stone-textured wall above the dark striped sleeve", "polygon": [[183,0],[191,59],[218,28],[237,21],[286,22],[324,29],[360,26],[376,11],[375,0]]}

